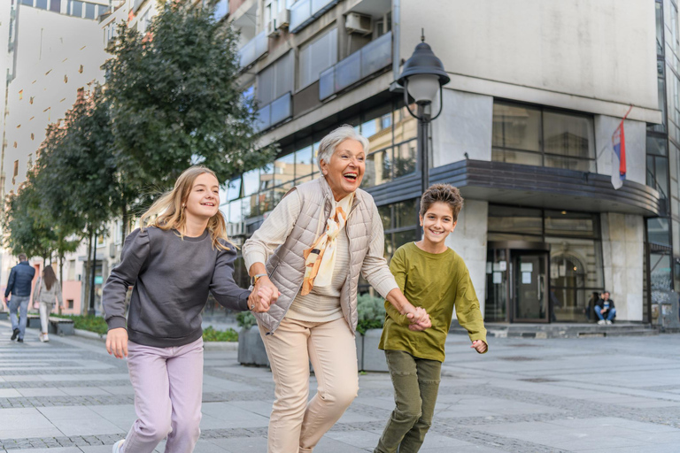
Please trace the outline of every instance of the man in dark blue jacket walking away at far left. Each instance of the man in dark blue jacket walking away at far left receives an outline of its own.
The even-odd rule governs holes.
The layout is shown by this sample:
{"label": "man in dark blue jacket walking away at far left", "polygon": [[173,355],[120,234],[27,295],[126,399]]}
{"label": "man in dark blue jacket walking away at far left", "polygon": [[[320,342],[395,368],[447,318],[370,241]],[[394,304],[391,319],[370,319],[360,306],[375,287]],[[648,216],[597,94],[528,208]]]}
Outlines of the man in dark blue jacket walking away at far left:
{"label": "man in dark blue jacket walking away at far left", "polygon": [[[19,253],[19,264],[12,267],[7,288],[4,290],[4,303],[10,311],[12,321],[12,340],[24,342],[28,316],[28,302],[31,296],[31,283],[35,276],[35,268],[28,263],[25,253]],[[7,297],[12,295],[10,300]],[[19,312],[19,319],[17,319]]]}

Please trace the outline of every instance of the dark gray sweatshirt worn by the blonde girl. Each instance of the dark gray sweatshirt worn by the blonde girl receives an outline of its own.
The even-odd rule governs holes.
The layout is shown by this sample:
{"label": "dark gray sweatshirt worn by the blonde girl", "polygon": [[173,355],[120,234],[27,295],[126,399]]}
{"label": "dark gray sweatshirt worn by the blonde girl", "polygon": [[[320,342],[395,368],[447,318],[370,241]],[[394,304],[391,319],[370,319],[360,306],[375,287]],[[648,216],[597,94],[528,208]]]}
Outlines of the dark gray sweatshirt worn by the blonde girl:
{"label": "dark gray sweatshirt worn by the blonde girl", "polygon": [[183,239],[174,230],[153,226],[133,231],[104,285],[109,329],[126,326],[125,295],[131,286],[128,338],[145,346],[182,346],[200,338],[208,291],[231,310],[248,310],[250,291],[236,286],[236,250],[228,247],[213,249],[207,230]]}

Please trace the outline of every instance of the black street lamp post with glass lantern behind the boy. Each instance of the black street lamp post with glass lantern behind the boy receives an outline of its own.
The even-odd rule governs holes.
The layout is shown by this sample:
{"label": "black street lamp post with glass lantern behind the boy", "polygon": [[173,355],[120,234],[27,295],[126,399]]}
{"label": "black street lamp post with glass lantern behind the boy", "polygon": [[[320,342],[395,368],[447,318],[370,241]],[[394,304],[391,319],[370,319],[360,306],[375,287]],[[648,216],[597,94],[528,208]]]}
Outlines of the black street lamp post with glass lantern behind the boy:
{"label": "black street lamp post with glass lantern behind the boy", "polygon": [[[425,42],[425,35],[421,35],[421,43],[415,46],[413,55],[406,60],[404,70],[399,75],[398,83],[404,87],[404,104],[413,118],[418,119],[418,159],[421,165],[422,193],[429,187],[429,123],[442,113],[444,107],[443,86],[451,78],[444,71],[442,60]],[[431,116],[430,106],[437,96],[439,89],[439,111]],[[413,113],[409,107],[408,96],[411,95],[418,105],[418,111]]]}

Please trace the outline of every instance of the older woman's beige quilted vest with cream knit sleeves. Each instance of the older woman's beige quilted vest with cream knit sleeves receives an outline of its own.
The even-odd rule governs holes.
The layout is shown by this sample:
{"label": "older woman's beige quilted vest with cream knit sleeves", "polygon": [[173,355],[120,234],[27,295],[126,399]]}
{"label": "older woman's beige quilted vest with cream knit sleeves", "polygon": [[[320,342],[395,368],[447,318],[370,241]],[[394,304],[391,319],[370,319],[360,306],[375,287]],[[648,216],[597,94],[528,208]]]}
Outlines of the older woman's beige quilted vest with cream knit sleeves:
{"label": "older woman's beige quilted vest with cream knit sleeves", "polygon": [[[283,209],[280,208],[282,204],[277,205],[258,231],[243,244],[246,268],[250,269],[253,263],[266,263],[269,278],[281,292],[269,311],[255,313],[268,334],[274,333],[290,304],[298,296],[305,276],[303,251],[321,234],[321,228],[326,225],[332,209],[333,193],[324,177],[292,188],[286,196],[300,197],[299,213],[281,215],[282,212],[274,212]],[[290,224],[274,225],[282,219]],[[398,285],[383,257],[383,224],[378,209],[373,197],[360,188],[355,193],[352,211],[344,229],[349,240],[350,265],[347,280],[340,291],[340,306],[353,333],[358,321],[359,273],[383,297],[398,288]]]}

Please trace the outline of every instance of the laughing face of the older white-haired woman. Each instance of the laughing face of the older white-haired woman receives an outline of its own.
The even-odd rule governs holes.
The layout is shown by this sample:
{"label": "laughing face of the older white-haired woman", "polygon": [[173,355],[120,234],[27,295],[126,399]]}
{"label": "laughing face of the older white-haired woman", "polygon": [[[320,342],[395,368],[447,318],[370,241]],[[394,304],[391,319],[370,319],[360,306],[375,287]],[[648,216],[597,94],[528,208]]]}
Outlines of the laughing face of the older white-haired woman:
{"label": "laughing face of the older white-haired woman", "polygon": [[321,160],[321,172],[328,181],[336,201],[352,194],[361,185],[366,170],[366,153],[360,142],[348,139],[336,147],[326,162]]}

